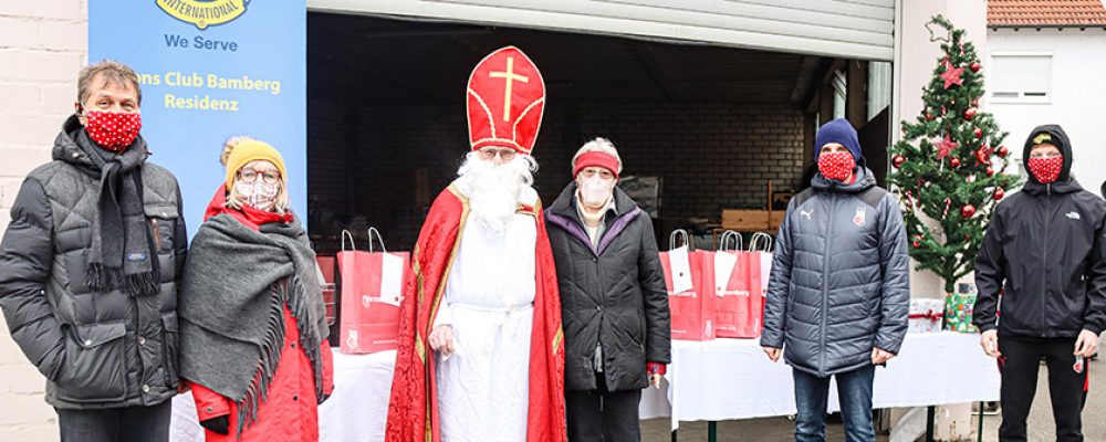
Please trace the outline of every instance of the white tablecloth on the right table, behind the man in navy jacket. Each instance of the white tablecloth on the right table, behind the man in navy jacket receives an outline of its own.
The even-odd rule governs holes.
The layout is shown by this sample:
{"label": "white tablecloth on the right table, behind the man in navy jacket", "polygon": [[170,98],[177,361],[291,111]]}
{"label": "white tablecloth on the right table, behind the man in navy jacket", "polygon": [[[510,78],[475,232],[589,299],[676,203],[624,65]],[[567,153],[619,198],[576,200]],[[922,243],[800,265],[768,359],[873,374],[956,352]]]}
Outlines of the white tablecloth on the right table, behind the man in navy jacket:
{"label": "white tablecloth on the right table, behind the man in navy jacket", "polygon": [[[772,364],[757,339],[672,341],[666,389],[646,389],[641,418],[720,421],[795,413],[792,370]],[[876,369],[875,408],[925,407],[999,399],[999,370],[979,335],[908,334],[897,358]],[[839,410],[831,382],[831,411]]]}

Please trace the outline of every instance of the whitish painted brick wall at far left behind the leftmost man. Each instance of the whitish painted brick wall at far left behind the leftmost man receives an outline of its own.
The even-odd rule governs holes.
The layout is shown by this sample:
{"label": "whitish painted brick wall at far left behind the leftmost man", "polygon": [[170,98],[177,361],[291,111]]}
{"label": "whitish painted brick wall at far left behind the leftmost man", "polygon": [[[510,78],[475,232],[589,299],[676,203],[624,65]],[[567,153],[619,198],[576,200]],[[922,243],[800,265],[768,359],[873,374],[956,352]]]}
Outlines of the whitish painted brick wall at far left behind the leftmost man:
{"label": "whitish painted brick wall at far left behind the leftmost man", "polygon": [[[50,159],[87,56],[85,0],[0,2],[0,231],[23,177]],[[58,440],[45,381],[0,323],[0,439]]]}

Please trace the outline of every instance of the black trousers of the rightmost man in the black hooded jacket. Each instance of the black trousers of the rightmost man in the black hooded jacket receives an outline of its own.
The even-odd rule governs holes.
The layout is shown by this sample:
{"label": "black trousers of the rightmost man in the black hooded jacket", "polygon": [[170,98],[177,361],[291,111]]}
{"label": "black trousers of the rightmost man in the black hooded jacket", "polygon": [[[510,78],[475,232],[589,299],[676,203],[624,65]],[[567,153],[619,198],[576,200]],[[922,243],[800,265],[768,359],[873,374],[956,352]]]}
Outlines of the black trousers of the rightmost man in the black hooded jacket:
{"label": "black trousers of the rightmost man in the black hooded jacket", "polygon": [[1056,420],[1057,442],[1083,441],[1083,404],[1087,399],[1089,360],[1082,371],[1075,370],[1074,338],[999,337],[999,371],[1002,373],[1000,398],[1002,424],[999,440],[1025,441],[1025,419],[1036,394],[1037,369],[1041,359],[1048,366],[1048,393]]}

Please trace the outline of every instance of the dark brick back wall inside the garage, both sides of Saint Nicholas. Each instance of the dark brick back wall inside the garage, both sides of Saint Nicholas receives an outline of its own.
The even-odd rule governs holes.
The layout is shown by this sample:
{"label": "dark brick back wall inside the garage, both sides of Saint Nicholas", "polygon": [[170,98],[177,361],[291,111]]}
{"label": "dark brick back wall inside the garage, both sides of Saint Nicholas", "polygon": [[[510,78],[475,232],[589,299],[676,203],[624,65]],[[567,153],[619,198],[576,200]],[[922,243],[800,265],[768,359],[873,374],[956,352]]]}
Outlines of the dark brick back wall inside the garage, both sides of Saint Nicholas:
{"label": "dark brick back wall inside the garage, both sides of Saint Nicholas", "polygon": [[[336,107],[320,104],[320,109]],[[325,115],[324,115],[325,114]],[[333,123],[309,125],[312,212],[331,223],[313,233],[330,238],[351,227],[382,229],[393,249],[409,250],[426,204],[453,179],[468,133],[461,106],[365,107],[312,118],[356,120],[347,144],[327,143]],[[799,190],[807,149],[797,109],[753,104],[619,104],[551,107],[534,156],[535,187],[551,203],[570,179],[568,162],[584,141],[603,136],[619,148],[625,175],[660,176],[662,228],[689,217],[717,221],[722,208],[763,207],[766,182]],[[317,145],[316,145],[317,144]],[[346,182],[343,185],[342,182]],[[334,189],[338,194],[315,194]],[[325,227],[324,227],[325,225]],[[320,242],[324,249],[327,245]],[[362,244],[358,244],[362,245]]]}

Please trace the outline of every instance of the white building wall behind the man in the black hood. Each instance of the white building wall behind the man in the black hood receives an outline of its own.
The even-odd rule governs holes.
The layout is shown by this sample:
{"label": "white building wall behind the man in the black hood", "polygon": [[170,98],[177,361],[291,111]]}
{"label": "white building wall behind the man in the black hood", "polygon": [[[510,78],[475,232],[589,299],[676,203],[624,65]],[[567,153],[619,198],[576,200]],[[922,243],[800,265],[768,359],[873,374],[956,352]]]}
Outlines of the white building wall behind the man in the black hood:
{"label": "white building wall behind the man in the black hood", "polygon": [[1106,110],[1103,110],[1106,103],[1106,31],[1102,28],[1086,31],[999,29],[988,31],[988,43],[989,56],[984,63],[990,63],[990,55],[997,52],[1052,54],[1048,103],[988,99],[987,109],[994,114],[1002,129],[1010,133],[1005,146],[1013,157],[1021,164],[1022,146],[1034,127],[1058,124],[1072,138],[1073,173],[1085,189],[1098,194],[1106,180]]}

